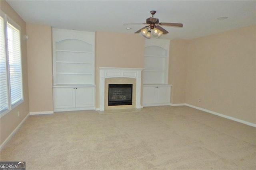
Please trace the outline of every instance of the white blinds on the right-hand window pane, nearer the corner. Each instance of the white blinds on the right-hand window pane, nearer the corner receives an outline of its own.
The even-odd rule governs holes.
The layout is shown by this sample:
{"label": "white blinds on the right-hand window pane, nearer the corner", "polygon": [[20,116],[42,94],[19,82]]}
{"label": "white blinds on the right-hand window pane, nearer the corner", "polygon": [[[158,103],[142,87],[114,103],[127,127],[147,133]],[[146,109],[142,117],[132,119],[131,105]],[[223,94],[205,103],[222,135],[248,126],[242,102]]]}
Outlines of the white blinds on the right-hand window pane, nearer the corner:
{"label": "white blinds on the right-hand window pane, nearer the corner", "polygon": [[20,30],[7,22],[8,64],[10,74],[11,106],[23,100],[20,54]]}

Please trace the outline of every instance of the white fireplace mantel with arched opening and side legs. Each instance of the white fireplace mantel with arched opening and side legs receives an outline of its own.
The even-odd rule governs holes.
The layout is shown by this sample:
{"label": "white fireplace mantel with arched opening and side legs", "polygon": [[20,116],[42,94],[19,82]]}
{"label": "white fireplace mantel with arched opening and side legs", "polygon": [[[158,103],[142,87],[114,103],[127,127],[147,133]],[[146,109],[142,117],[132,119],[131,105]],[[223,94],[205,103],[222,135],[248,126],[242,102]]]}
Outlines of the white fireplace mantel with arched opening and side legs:
{"label": "white fireplace mantel with arched opening and side legs", "polygon": [[100,111],[103,111],[105,109],[105,79],[115,77],[136,79],[136,109],[140,109],[142,70],[144,70],[144,68],[100,67]]}

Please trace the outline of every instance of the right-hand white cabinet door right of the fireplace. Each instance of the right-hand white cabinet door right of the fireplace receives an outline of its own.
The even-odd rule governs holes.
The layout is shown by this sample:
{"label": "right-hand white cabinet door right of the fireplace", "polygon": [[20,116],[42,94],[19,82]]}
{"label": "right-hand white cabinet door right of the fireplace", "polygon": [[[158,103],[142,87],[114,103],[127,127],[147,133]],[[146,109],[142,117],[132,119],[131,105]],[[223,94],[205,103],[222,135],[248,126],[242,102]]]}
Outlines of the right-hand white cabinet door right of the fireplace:
{"label": "right-hand white cabinet door right of the fireplace", "polygon": [[170,86],[157,86],[158,90],[158,103],[163,104],[167,103],[170,104]]}

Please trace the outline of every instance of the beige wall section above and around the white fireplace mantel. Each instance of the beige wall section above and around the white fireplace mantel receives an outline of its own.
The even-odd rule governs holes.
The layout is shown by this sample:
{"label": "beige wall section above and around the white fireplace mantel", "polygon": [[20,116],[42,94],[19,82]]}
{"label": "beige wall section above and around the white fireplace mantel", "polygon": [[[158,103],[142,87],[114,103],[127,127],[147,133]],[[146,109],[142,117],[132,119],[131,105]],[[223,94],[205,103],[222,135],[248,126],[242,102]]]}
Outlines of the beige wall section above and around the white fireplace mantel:
{"label": "beige wall section above and around the white fireplace mantel", "polygon": [[144,37],[96,32],[95,58],[96,108],[99,108],[99,67],[144,68]]}

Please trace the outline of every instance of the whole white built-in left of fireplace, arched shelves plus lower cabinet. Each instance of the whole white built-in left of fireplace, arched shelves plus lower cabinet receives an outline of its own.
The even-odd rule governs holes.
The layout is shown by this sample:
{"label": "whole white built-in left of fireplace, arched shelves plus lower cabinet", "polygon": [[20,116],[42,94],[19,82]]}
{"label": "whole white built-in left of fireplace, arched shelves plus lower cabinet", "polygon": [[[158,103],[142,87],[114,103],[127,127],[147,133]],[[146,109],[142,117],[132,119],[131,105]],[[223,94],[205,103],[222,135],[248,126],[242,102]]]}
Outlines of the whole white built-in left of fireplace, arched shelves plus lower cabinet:
{"label": "whole white built-in left of fireplace, arched shelves plus lower cabinet", "polygon": [[54,111],[95,109],[94,37],[52,29]]}

